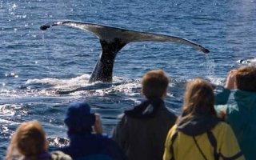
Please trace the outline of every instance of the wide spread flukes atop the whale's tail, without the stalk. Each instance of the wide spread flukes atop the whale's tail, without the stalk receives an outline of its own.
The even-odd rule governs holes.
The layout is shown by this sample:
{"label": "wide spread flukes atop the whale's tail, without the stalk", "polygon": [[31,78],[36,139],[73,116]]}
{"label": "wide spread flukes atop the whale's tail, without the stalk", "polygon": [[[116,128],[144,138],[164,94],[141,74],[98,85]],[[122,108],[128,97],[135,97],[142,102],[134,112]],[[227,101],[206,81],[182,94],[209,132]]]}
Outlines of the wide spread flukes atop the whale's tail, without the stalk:
{"label": "wide spread flukes atop the whale's tail, without the stalk", "polygon": [[210,51],[205,47],[191,42],[185,38],[178,38],[170,35],[163,34],[152,34],[147,32],[139,32],[134,30],[126,30],[111,26],[102,26],[88,22],[74,22],[74,21],[60,21],[60,22],[49,22],[40,27],[41,30],[47,30],[51,26],[71,26],[79,28],[81,30],[89,31],[95,34],[100,40],[106,42],[113,42],[115,38],[121,40],[122,43],[127,44],[129,42],[176,42],[183,45],[191,46],[196,50],[201,50],[207,54]]}

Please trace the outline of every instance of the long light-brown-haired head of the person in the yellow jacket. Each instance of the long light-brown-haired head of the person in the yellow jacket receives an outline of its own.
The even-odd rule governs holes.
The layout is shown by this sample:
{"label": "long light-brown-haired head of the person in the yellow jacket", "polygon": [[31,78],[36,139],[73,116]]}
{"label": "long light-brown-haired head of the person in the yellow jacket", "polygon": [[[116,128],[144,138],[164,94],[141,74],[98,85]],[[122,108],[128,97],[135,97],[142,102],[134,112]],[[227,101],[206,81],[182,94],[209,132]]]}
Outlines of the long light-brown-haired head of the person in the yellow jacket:
{"label": "long light-brown-haired head of the person in the yellow jacket", "polygon": [[214,89],[210,82],[202,78],[195,78],[186,86],[183,102],[183,114],[194,115],[213,115],[214,110]]}

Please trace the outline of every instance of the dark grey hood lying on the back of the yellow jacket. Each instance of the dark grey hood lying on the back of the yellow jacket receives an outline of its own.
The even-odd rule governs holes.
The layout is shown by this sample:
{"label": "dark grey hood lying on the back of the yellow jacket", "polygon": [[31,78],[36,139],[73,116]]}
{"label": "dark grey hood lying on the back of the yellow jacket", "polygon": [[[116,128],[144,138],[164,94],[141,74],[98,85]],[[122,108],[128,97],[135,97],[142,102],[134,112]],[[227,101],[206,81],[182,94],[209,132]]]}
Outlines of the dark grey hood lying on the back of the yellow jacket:
{"label": "dark grey hood lying on the back of the yellow jacket", "polygon": [[221,120],[210,115],[199,115],[192,118],[182,117],[177,125],[177,130],[183,134],[196,136],[211,130]]}

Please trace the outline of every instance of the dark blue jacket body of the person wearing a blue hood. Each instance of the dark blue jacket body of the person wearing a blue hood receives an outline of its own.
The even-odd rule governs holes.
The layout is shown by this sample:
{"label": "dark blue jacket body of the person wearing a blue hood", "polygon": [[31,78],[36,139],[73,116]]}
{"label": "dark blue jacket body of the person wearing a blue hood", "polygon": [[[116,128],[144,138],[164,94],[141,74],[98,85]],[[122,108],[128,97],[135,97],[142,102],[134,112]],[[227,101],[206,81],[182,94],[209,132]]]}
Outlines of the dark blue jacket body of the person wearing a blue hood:
{"label": "dark blue jacket body of the person wearing a blue hood", "polygon": [[59,148],[74,160],[124,160],[126,155],[116,142],[102,134],[72,134],[70,145]]}

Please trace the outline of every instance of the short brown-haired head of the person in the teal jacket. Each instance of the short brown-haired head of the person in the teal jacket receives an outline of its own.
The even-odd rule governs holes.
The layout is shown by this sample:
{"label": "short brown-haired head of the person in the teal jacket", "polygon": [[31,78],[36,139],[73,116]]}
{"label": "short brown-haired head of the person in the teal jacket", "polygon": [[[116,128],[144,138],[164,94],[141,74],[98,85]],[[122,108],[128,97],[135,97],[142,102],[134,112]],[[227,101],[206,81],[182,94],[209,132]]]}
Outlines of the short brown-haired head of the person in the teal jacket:
{"label": "short brown-haired head of the person in the teal jacket", "polygon": [[242,66],[236,71],[236,85],[239,90],[256,92],[256,66]]}

